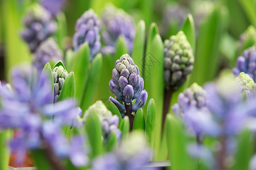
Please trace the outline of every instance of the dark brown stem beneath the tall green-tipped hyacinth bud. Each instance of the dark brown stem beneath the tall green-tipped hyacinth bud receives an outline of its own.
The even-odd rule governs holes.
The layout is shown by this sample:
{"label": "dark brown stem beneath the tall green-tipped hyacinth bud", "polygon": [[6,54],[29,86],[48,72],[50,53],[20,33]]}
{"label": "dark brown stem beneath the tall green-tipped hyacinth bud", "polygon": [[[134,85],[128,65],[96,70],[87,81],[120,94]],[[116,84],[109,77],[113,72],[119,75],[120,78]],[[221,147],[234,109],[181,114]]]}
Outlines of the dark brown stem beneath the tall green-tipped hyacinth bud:
{"label": "dark brown stem beneath the tall green-tipped hyacinth bud", "polygon": [[170,108],[171,97],[172,97],[172,88],[164,89],[164,105],[163,105],[163,117],[162,117],[162,133],[164,129],[164,122],[166,121],[166,116]]}

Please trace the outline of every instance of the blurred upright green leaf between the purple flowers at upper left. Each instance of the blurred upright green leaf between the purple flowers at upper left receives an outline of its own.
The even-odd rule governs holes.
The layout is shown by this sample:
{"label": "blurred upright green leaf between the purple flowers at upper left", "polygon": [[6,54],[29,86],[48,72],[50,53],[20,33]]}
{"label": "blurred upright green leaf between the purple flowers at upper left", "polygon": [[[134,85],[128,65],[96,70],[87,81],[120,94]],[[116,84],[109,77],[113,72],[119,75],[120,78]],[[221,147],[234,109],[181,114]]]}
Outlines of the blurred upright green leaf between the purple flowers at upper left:
{"label": "blurred upright green leaf between the purple flowers at upper left", "polygon": [[67,36],[67,21],[65,14],[60,12],[56,18],[57,21],[57,30],[56,30],[56,37],[57,43],[59,44],[61,49],[64,49],[64,38]]}

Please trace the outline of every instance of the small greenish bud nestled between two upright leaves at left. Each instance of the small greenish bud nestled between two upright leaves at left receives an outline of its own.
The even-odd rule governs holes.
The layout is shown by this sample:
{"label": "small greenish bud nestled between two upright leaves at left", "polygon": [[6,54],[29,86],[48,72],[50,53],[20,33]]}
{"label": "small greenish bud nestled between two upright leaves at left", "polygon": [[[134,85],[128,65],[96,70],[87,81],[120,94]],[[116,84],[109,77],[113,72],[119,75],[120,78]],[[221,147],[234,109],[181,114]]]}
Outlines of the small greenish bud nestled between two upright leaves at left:
{"label": "small greenish bud nestled between two upright leaves at left", "polygon": [[61,93],[64,81],[68,76],[68,71],[66,71],[63,66],[55,67],[52,70],[53,83],[54,83],[54,102],[57,101]]}

